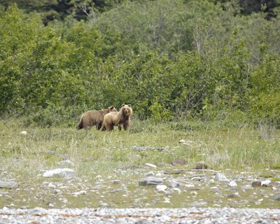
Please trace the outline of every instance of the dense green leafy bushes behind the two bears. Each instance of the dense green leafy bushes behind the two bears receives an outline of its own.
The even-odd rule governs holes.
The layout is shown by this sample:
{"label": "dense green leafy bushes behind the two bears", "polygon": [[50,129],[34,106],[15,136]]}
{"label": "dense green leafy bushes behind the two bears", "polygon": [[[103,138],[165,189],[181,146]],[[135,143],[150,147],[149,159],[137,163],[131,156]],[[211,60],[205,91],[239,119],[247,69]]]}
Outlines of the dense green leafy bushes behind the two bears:
{"label": "dense green leafy bushes behind the two bears", "polygon": [[97,2],[85,20],[48,25],[16,5],[0,11],[1,116],[53,125],[125,103],[155,122],[280,126],[279,8],[267,20],[265,5],[244,15],[237,1]]}

